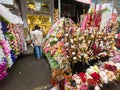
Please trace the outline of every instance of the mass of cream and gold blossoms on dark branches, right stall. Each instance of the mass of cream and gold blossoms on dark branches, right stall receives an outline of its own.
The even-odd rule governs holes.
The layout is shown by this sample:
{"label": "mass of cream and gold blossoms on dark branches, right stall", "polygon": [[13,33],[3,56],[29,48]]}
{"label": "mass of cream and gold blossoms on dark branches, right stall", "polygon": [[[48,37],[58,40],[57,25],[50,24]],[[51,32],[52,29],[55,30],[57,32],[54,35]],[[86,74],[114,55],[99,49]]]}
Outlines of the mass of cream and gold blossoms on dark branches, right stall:
{"label": "mass of cream and gold blossoms on dark branches, right stall", "polygon": [[64,39],[68,59],[73,63],[77,61],[89,63],[90,60],[114,56],[116,54],[114,38],[117,26],[116,24],[111,25],[114,28],[111,28],[111,32],[107,32],[107,28],[99,31],[97,27],[91,27],[81,30],[79,36],[77,36],[76,30],[69,26],[69,33]]}

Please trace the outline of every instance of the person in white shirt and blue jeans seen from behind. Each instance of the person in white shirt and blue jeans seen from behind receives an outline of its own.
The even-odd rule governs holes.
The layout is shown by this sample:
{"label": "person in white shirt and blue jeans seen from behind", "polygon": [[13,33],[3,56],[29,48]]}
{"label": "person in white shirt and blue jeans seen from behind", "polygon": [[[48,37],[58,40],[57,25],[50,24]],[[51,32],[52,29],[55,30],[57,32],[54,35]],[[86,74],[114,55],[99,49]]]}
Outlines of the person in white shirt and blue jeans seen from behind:
{"label": "person in white shirt and blue jeans seen from behind", "polygon": [[34,30],[31,32],[31,40],[34,46],[35,57],[42,58],[43,33],[38,25],[36,25]]}

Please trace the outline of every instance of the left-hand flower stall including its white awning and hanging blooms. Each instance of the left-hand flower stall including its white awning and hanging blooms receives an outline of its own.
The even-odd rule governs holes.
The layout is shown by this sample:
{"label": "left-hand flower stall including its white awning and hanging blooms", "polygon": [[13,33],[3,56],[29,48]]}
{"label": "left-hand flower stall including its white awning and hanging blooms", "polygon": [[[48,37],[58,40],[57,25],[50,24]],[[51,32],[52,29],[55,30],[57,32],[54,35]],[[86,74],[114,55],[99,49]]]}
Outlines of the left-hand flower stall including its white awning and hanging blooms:
{"label": "left-hand flower stall including its white awning and hanging blooms", "polygon": [[22,20],[0,4],[0,80],[25,50]]}

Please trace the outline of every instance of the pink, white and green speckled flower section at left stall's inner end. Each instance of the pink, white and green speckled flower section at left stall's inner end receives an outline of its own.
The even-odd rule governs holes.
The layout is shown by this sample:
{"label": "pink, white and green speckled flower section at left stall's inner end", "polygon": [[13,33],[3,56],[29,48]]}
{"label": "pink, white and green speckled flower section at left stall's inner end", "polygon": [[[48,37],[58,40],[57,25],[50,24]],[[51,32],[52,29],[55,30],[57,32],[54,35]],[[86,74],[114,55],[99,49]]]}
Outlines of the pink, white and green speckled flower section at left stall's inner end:
{"label": "pink, white and green speckled flower section at left stall's inner end", "polygon": [[7,36],[15,55],[19,55],[25,50],[25,40],[22,27],[19,24],[8,24]]}

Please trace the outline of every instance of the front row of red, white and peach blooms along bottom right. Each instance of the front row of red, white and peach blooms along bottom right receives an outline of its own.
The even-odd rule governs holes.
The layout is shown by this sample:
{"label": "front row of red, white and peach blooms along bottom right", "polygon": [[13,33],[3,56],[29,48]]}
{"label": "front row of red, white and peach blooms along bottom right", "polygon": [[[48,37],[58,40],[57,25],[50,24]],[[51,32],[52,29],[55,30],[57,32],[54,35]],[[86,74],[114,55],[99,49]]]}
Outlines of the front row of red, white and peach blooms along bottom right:
{"label": "front row of red, white and peach blooms along bottom right", "polygon": [[89,85],[94,86],[95,90],[100,90],[104,83],[107,84],[118,78],[120,78],[120,63],[108,61],[100,66],[90,66],[85,73],[80,72],[74,74],[71,79],[66,79],[65,90],[88,90]]}

